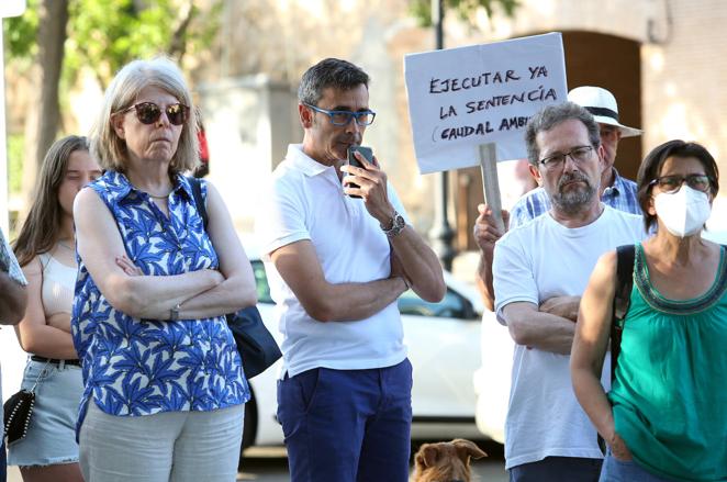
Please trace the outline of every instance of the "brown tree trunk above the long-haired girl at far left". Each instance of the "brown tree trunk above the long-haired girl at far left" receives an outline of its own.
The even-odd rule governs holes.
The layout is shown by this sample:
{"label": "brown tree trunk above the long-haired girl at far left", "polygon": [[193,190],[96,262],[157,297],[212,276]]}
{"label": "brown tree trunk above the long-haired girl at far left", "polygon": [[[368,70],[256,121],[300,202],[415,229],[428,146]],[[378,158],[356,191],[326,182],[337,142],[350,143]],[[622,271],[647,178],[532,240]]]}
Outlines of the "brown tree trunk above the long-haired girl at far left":
{"label": "brown tree trunk above the long-haired girl at far left", "polygon": [[35,188],[41,164],[58,133],[60,105],[58,82],[63,69],[66,25],[68,24],[68,0],[43,0],[38,5],[38,56],[33,70],[34,102],[26,117],[25,154],[23,158],[23,192],[25,213]]}

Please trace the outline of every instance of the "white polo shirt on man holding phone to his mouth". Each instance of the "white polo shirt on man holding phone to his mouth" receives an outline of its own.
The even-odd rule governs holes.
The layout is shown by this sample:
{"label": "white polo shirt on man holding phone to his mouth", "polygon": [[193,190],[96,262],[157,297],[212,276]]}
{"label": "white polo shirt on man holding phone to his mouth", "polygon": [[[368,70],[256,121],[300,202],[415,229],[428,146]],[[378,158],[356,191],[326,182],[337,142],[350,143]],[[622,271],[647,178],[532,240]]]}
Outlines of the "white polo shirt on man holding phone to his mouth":
{"label": "white polo shirt on man holding phone to his mouth", "polygon": [[[406,217],[391,186],[388,191],[394,209]],[[389,278],[389,240],[363,201],[344,194],[335,168],[306,156],[301,145],[290,145],[262,202],[256,234],[283,335],[281,373],[294,377],[318,367],[353,370],[403,361],[406,348],[396,302],[361,321],[321,323],[305,312],[270,261],[276,249],[310,239],[329,283]]]}

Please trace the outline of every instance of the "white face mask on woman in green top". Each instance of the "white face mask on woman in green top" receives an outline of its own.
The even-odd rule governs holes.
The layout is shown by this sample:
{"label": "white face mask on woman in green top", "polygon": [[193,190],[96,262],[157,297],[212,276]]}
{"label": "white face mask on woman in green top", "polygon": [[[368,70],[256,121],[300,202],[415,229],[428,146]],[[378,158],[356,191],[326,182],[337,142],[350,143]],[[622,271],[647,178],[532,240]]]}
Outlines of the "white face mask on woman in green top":
{"label": "white face mask on woman in green top", "polygon": [[657,194],[653,208],[667,231],[679,237],[698,233],[712,213],[707,193],[686,184],[676,192]]}

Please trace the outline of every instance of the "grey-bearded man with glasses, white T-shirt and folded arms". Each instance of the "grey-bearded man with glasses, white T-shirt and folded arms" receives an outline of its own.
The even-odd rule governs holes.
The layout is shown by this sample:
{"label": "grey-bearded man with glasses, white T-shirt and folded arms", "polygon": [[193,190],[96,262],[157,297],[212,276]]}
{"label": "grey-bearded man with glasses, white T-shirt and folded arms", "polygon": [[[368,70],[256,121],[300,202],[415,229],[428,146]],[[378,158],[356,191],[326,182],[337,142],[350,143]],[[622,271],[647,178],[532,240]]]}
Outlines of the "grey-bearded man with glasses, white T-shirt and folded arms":
{"label": "grey-bearded man with glasses, white T-shirt and folded arms", "polygon": [[505,467],[515,482],[595,482],[603,456],[571,388],[571,343],[596,260],[642,239],[644,223],[599,199],[604,149],[585,109],[571,102],[543,109],[528,122],[525,142],[551,208],[494,249],[495,312],[516,344]]}

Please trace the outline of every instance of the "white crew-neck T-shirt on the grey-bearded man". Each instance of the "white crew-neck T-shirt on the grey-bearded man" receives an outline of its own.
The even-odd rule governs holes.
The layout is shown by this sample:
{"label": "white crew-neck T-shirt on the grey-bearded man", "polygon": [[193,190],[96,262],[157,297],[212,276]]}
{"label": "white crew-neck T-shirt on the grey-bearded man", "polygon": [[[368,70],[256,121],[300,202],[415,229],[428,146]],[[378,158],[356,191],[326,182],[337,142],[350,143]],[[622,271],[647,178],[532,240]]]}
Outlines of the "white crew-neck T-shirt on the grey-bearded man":
{"label": "white crew-neck T-shirt on the grey-bearded man", "polygon": [[[568,228],[549,213],[506,233],[495,245],[495,312],[510,303],[539,305],[552,296],[581,295],[604,253],[646,237],[641,216],[604,206],[593,223]],[[596,430],[570,379],[570,356],[515,345],[505,422],[505,467],[546,457],[602,458]],[[602,383],[608,386],[609,359]]]}

